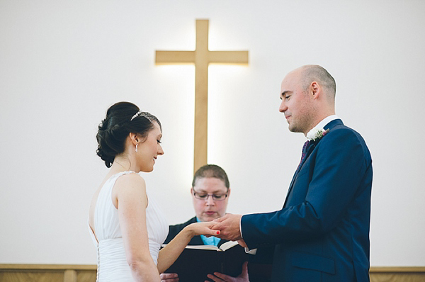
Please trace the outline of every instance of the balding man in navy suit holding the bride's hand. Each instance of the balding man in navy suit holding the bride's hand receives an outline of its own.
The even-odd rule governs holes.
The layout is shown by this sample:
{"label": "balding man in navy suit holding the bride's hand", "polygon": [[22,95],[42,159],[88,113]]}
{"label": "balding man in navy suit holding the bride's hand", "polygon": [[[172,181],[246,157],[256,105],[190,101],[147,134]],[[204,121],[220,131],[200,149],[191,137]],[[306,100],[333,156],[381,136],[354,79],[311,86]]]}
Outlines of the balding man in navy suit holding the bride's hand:
{"label": "balding man in navy suit holding the bride's hand", "polygon": [[307,65],[283,79],[279,111],[307,137],[281,210],[227,214],[213,229],[248,249],[272,244],[272,281],[369,281],[372,160],[335,115],[335,81]]}

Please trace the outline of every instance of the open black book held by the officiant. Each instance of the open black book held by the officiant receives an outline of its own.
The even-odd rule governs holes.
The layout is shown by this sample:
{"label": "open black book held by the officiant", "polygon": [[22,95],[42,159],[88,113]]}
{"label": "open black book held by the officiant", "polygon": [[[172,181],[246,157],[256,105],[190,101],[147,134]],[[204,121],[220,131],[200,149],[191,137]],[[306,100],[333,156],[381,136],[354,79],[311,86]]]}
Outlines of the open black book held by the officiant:
{"label": "open black book held by the officiant", "polygon": [[[165,245],[162,245],[163,247]],[[179,258],[165,273],[179,274],[180,282],[208,281],[207,274],[220,272],[236,277],[249,254],[237,242],[215,246],[186,246]]]}

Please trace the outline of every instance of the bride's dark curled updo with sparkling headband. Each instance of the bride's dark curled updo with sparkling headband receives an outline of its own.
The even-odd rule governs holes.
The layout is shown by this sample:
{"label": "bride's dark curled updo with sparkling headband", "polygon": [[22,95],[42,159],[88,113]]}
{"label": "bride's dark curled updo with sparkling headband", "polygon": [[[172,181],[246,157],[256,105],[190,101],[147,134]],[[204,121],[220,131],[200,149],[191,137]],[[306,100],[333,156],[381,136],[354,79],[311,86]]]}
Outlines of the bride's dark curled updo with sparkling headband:
{"label": "bride's dark curled updo with sparkling headband", "polygon": [[106,167],[111,167],[115,156],[124,152],[125,140],[130,132],[145,138],[154,128],[154,122],[161,128],[161,123],[154,115],[140,111],[134,103],[113,104],[106,111],[106,118],[98,125],[97,155],[103,159]]}

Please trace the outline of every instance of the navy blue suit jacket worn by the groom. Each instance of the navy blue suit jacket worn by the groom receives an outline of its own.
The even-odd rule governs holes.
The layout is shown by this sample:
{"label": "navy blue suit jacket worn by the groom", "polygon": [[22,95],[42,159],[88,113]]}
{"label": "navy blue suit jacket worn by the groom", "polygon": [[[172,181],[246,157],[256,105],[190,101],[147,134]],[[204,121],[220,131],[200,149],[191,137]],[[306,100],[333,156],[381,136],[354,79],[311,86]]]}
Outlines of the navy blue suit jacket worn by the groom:
{"label": "navy blue suit jacket worn by the groom", "polygon": [[250,249],[275,245],[272,281],[369,281],[370,152],[341,120],[324,129],[307,147],[283,208],[242,217]]}

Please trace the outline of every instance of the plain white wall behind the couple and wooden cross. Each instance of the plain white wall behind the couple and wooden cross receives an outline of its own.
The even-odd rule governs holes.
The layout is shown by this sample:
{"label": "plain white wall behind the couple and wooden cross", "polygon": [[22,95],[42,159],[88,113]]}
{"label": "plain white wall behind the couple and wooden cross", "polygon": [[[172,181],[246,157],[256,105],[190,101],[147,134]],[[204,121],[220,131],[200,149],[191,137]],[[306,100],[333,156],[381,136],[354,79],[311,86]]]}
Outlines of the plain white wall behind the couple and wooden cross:
{"label": "plain white wall behind the couple and wooden cross", "polygon": [[278,210],[304,137],[278,113],[280,81],[321,64],[337,114],[373,156],[372,266],[424,266],[421,146],[424,1],[0,1],[0,263],[96,264],[86,225],[107,169],[106,108],[132,101],[163,123],[147,185],[170,223],[193,216],[194,67],[155,50],[249,50],[249,67],[210,67],[208,162],[227,170],[230,213]]}

